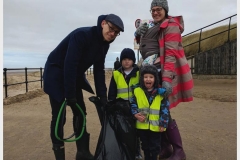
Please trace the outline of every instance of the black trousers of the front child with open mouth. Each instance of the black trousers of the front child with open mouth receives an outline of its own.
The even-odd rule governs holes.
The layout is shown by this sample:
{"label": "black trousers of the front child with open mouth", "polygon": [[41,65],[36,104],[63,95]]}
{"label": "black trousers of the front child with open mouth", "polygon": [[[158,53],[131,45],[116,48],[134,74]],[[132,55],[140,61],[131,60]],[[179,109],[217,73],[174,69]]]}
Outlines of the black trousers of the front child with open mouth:
{"label": "black trousers of the front child with open mouth", "polygon": [[137,130],[142,142],[142,150],[144,155],[158,154],[161,149],[161,132],[153,132],[150,130]]}

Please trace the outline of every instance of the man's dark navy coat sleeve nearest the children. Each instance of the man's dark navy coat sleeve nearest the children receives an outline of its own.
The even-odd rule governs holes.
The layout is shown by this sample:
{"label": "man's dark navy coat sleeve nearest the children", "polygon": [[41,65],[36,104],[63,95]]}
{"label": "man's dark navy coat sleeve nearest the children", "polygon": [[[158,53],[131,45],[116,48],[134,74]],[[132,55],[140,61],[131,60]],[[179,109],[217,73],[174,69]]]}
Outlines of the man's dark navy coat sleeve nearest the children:
{"label": "man's dark navy coat sleeve nearest the children", "polygon": [[[107,87],[105,83],[105,58],[108,48],[106,51],[102,51],[102,56],[99,61],[93,65],[94,83],[96,93],[98,97],[107,97]],[[100,53],[101,54],[101,53]]]}

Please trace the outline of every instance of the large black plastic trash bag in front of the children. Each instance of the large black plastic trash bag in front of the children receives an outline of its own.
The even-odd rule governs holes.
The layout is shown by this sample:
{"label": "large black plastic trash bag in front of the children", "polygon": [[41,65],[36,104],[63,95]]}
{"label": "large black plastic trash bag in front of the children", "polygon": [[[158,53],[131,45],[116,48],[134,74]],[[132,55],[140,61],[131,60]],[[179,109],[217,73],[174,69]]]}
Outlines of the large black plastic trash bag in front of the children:
{"label": "large black plastic trash bag in front of the children", "polygon": [[135,160],[136,129],[129,102],[123,99],[109,102],[100,119],[102,128],[94,159]]}

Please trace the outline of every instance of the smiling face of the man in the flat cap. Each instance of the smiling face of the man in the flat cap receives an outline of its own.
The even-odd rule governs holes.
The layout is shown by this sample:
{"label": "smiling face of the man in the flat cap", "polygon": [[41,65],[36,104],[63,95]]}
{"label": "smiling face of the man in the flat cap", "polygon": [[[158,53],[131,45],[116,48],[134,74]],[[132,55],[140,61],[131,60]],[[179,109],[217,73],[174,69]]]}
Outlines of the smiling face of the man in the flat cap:
{"label": "smiling face of the man in the flat cap", "polygon": [[120,30],[112,23],[103,20],[101,25],[103,28],[102,34],[105,41],[110,42],[120,35]]}

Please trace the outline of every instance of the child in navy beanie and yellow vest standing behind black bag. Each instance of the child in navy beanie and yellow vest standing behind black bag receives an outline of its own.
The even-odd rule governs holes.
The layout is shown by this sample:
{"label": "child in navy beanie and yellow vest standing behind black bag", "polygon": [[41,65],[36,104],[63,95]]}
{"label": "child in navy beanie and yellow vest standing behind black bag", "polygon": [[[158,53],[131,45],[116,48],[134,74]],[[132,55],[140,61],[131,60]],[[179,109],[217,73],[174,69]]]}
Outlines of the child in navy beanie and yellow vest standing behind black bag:
{"label": "child in navy beanie and yellow vest standing behind black bag", "polygon": [[[108,100],[113,101],[117,98],[130,100],[133,88],[139,85],[139,69],[135,64],[135,53],[130,48],[124,48],[120,55],[121,67],[113,72],[108,90]],[[139,142],[139,140],[137,141]],[[140,145],[137,144],[136,160],[141,160]]]}

